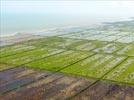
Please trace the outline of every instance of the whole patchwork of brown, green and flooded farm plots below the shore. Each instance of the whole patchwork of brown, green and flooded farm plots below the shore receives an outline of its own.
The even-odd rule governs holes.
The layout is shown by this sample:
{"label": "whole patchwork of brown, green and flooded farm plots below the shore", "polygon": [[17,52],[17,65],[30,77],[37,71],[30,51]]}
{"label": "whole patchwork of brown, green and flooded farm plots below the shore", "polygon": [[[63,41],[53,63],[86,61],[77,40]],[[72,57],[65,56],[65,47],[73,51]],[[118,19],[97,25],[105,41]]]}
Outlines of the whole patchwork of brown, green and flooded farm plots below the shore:
{"label": "whole patchwork of brown, green and flooded farm plots below the shore", "polygon": [[132,26],[109,23],[0,47],[0,98],[134,100]]}

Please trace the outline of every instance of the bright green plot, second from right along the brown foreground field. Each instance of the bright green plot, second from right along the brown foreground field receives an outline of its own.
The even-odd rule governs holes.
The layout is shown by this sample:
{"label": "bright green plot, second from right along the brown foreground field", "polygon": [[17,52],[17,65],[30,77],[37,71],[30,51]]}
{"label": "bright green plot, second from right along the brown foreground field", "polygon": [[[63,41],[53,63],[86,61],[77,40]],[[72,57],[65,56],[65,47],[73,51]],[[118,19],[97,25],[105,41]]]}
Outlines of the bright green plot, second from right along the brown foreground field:
{"label": "bright green plot, second from right along the brown foreground field", "polygon": [[61,72],[79,76],[101,78],[105,73],[122,62],[124,59],[125,57],[96,54],[61,70]]}

